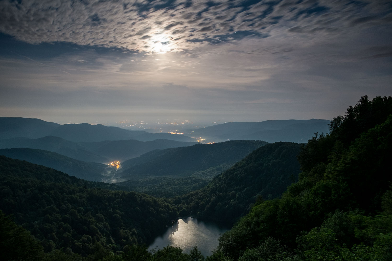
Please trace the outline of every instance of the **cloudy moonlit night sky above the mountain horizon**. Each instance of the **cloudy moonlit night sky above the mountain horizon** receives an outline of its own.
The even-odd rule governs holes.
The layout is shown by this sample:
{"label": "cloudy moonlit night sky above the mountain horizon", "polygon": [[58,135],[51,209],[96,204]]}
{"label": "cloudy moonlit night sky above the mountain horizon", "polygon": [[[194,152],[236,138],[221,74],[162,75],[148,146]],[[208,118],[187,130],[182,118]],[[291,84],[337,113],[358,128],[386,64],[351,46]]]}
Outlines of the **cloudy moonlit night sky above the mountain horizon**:
{"label": "cloudy moonlit night sky above the mountain horizon", "polygon": [[391,1],[0,1],[0,116],[332,119],[391,61]]}

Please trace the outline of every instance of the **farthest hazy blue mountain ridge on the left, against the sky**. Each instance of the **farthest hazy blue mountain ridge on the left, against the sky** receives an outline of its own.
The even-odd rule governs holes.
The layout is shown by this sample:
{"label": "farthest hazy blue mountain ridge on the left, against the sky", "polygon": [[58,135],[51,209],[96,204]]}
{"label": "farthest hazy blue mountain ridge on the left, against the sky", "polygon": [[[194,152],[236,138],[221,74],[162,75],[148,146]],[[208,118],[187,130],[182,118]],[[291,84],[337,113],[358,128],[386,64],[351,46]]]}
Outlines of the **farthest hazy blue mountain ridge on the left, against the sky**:
{"label": "farthest hazy blue mountain ridge on the left, against the sky", "polygon": [[60,125],[40,119],[0,117],[0,139],[16,137],[37,139],[50,135],[73,142],[97,142],[103,140],[148,141],[156,139],[194,141],[194,139],[184,135],[125,130],[113,126],[103,126],[102,124],[91,125],[81,123]]}

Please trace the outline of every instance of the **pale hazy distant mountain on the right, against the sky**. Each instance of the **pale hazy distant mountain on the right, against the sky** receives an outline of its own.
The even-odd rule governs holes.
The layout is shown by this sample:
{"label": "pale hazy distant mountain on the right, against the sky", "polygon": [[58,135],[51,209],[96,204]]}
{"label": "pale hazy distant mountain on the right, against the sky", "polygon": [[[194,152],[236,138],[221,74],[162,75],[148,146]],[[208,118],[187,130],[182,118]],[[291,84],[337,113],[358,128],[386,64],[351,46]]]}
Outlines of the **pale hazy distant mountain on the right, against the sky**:
{"label": "pale hazy distant mountain on the right, against the sky", "polygon": [[227,140],[265,140],[305,143],[315,132],[328,133],[328,120],[281,120],[262,122],[227,122],[205,128],[184,130],[185,135],[205,142]]}

